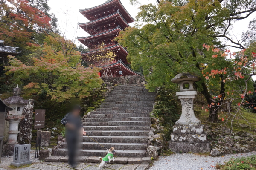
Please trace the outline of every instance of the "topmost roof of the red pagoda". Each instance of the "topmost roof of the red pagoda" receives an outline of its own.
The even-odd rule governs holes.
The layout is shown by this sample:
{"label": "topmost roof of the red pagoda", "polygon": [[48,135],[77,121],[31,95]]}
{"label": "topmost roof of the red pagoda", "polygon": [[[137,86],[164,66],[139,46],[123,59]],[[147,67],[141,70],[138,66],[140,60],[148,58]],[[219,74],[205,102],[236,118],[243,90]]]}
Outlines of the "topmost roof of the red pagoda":
{"label": "topmost roof of the red pagoda", "polygon": [[134,18],[131,17],[131,15],[128,13],[128,11],[125,9],[125,7],[122,5],[122,2],[120,0],[108,0],[103,4],[100,4],[98,6],[94,6],[91,8],[86,8],[86,9],[80,9],[79,12],[81,14],[84,14],[84,16],[88,19],[91,20],[90,17],[87,17],[86,14],[94,14],[94,13],[99,13],[99,11],[102,11],[103,9],[107,9],[108,7],[117,5],[118,9],[121,11],[123,16],[125,17],[125,20],[127,23],[132,23],[134,22]]}

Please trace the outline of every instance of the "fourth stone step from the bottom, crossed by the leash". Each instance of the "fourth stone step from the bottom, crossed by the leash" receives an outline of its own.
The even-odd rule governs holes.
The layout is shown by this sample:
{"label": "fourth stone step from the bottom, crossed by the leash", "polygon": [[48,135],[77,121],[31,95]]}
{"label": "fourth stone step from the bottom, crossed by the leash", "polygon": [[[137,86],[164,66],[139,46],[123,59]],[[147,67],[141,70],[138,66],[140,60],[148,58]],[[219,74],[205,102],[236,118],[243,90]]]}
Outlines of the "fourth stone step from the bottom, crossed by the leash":
{"label": "fourth stone step from the bottom, crossed by the leash", "polygon": [[91,138],[102,143],[148,143],[148,136],[83,136],[83,142],[95,142]]}

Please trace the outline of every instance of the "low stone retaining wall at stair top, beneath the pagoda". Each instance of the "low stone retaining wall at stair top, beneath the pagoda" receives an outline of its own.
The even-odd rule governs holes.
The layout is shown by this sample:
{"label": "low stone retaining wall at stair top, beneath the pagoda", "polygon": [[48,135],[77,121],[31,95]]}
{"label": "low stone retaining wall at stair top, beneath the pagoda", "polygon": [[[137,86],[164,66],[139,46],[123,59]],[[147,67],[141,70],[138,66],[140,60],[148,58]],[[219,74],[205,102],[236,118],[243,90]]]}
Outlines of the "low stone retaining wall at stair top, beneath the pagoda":
{"label": "low stone retaining wall at stair top, beneath the pagoda", "polygon": [[140,75],[125,75],[121,77],[101,77],[104,81],[103,86],[116,86],[124,84],[147,84],[144,76]]}

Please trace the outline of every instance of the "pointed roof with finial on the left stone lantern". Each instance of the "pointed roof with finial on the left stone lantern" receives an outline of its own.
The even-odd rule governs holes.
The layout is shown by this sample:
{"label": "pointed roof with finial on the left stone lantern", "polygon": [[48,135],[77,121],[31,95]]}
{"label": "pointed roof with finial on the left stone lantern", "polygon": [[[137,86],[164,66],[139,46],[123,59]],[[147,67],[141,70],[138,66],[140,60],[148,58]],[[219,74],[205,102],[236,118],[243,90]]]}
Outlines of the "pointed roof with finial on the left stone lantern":
{"label": "pointed roof with finial on the left stone lantern", "polygon": [[23,97],[20,97],[21,89],[18,84],[16,88],[13,88],[13,96],[4,99],[3,102],[6,104],[17,104],[17,105],[27,105],[29,103],[28,100],[24,100]]}

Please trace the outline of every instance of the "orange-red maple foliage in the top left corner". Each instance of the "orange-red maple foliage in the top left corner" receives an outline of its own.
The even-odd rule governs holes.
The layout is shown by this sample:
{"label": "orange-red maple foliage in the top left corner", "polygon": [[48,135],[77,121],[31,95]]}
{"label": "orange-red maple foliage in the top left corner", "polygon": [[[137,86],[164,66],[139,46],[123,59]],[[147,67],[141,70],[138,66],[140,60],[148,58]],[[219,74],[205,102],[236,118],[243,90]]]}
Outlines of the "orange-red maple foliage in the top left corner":
{"label": "orange-red maple foliage in the top left corner", "polygon": [[30,6],[27,0],[7,0],[1,7],[4,17],[1,18],[0,39],[9,45],[31,42],[35,32],[51,27],[50,17]]}

